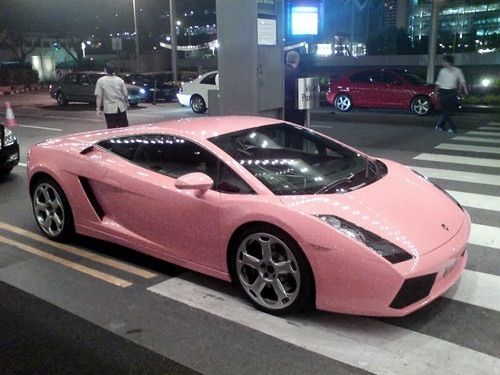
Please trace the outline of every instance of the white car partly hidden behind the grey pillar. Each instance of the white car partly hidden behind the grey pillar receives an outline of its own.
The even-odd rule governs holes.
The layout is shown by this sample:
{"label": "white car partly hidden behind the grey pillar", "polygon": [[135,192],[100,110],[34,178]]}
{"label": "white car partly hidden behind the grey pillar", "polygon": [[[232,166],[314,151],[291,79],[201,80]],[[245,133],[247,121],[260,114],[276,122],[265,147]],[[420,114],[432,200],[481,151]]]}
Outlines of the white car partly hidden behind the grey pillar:
{"label": "white car partly hidden behind the grey pillar", "polygon": [[177,99],[185,107],[191,107],[195,113],[205,113],[208,109],[208,90],[219,89],[217,71],[202,74],[194,81],[183,83]]}

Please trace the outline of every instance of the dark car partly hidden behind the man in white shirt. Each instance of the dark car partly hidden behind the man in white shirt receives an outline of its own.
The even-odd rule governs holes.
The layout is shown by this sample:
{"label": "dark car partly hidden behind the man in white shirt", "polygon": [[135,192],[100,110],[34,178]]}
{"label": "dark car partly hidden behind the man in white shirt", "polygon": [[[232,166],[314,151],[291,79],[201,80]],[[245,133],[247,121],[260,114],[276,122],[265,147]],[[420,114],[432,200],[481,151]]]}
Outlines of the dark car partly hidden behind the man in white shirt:
{"label": "dark car partly hidden behind the man in white shirt", "polygon": [[[95,84],[103,72],[73,72],[65,75],[55,84],[50,85],[50,96],[57,100],[60,106],[69,102],[95,103]],[[142,87],[126,84],[128,101],[135,106],[146,100],[146,90]]]}

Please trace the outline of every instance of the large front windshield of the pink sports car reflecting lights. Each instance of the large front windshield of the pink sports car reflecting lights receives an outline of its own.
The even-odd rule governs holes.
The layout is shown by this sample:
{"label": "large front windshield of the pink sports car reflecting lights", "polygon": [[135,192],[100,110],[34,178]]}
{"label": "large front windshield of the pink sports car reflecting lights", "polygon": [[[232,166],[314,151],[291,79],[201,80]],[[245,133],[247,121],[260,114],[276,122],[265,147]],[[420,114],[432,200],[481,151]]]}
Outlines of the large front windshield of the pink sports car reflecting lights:
{"label": "large front windshield of the pink sports car reflecting lights", "polygon": [[276,195],[344,193],[385,166],[304,127],[275,124],[209,139]]}

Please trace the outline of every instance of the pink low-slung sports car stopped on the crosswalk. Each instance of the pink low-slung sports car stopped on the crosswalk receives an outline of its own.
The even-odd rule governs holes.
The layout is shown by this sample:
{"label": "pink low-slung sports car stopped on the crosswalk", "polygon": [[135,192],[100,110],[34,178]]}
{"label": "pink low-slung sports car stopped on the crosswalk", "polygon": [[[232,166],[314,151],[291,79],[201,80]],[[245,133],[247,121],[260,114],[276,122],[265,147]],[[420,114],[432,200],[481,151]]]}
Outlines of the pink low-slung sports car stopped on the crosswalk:
{"label": "pink low-slung sports car stopped on the crosswalk", "polygon": [[389,160],[260,117],[185,119],[31,147],[51,239],[75,231],[234,281],[255,306],[403,316],[467,261],[467,212]]}

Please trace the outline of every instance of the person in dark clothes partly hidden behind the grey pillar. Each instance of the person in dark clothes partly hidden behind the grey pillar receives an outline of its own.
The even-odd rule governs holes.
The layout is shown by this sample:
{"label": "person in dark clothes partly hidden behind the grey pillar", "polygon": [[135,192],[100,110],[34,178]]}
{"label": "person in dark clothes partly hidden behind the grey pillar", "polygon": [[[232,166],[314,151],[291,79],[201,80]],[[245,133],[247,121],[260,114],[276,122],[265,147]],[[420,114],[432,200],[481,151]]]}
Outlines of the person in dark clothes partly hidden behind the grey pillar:
{"label": "person in dark clothes partly hidden behind the grey pillar", "polygon": [[304,125],[306,113],[298,109],[298,79],[300,77],[300,55],[297,51],[286,54],[285,65],[285,121]]}

